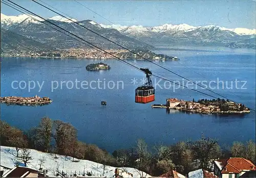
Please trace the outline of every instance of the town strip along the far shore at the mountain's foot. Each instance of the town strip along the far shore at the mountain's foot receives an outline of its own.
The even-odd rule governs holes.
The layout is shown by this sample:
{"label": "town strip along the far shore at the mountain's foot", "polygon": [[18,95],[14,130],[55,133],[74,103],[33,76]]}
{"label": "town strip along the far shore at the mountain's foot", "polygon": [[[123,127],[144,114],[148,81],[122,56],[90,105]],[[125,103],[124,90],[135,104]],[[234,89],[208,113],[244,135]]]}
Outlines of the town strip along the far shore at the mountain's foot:
{"label": "town strip along the far shore at the mountain's foot", "polygon": [[20,50],[20,51],[8,50],[5,53],[1,54],[1,57],[114,59],[114,57],[110,55],[110,54],[113,54],[116,57],[119,57],[120,59],[143,60],[143,58],[145,58],[148,60],[161,60],[161,61],[179,60],[178,57],[156,54],[154,52],[151,52],[150,50],[143,50],[143,49],[133,50],[135,54],[130,53],[126,49],[105,49],[105,52],[102,52],[97,49],[88,49],[88,48],[56,49],[56,50],[49,50],[47,52],[43,50],[38,50],[36,52],[32,50]]}

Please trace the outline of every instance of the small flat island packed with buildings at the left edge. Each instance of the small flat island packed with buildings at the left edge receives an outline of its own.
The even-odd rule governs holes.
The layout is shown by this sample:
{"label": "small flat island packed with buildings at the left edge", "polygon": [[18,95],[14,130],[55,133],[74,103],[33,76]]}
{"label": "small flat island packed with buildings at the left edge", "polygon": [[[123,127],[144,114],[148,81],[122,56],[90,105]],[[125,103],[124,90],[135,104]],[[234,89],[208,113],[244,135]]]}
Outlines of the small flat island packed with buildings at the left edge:
{"label": "small flat island packed with buildings at the left edge", "polygon": [[20,106],[42,106],[52,102],[49,97],[20,97],[20,96],[6,96],[0,98],[1,103],[7,105],[20,105]]}

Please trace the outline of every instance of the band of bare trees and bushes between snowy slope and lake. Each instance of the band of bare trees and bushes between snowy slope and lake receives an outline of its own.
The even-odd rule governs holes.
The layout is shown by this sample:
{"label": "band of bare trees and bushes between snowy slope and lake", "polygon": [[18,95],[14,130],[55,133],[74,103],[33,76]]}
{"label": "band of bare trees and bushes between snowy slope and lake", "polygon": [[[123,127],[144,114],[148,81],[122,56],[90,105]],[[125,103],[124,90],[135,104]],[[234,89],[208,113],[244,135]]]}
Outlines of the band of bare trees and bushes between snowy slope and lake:
{"label": "band of bare trees and bushes between snowy slope and lake", "polygon": [[229,157],[243,157],[255,164],[255,142],[251,140],[245,145],[233,142],[230,148],[221,149],[217,139],[203,134],[194,142],[179,141],[169,146],[158,143],[152,148],[143,139],[138,139],[135,147],[118,149],[110,154],[95,144],[78,141],[77,129],[61,120],[44,117],[38,126],[27,132],[4,121],[0,121],[0,124],[1,145],[15,147],[13,155],[25,166],[33,159],[27,148],[48,152],[55,159],[58,159],[57,155],[62,155],[72,157],[72,161],[85,159],[114,167],[134,167],[152,176],[159,176],[171,169],[183,174],[200,168],[209,170],[212,160]]}

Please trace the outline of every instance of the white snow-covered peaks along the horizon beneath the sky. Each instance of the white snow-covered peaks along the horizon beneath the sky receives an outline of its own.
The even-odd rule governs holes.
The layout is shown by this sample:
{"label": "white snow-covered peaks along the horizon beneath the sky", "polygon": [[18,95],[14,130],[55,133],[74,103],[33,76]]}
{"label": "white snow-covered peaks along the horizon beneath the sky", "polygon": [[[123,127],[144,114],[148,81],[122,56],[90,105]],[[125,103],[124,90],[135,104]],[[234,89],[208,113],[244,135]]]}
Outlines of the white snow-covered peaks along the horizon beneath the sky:
{"label": "white snow-covered peaks along the horizon beneath the sky", "polygon": [[[42,21],[42,19],[40,19],[39,17],[33,16],[33,18]],[[26,14],[20,14],[18,16],[7,16],[5,14],[1,13],[1,26],[2,24],[4,24],[5,26],[11,26],[12,24],[16,24],[16,23],[20,23],[22,21],[24,21],[25,19],[30,18],[28,15]],[[56,21],[62,21],[62,22],[73,22],[73,21],[78,21],[77,19],[72,19],[68,20],[64,17],[61,16],[54,16],[51,18],[48,18],[50,20],[56,20]],[[38,21],[33,20],[32,18],[30,18],[29,20],[30,22],[33,23],[38,23]],[[92,21],[92,24],[98,24],[97,22]],[[194,27],[194,26],[190,26],[188,24],[168,24],[165,23],[162,26],[156,26],[156,27],[143,27],[143,26],[122,26],[120,24],[112,24],[112,25],[105,25],[105,24],[99,24],[99,26],[101,26],[102,28],[106,28],[106,29],[116,29],[120,32],[125,32],[125,33],[147,33],[147,32],[155,32],[155,33],[162,33],[162,32],[176,32],[176,31],[193,31],[199,28],[202,28],[201,26],[199,27]],[[209,25],[209,26],[204,26],[203,28],[205,29],[211,29],[213,27],[217,27],[222,31],[231,31],[234,32],[238,35],[256,35],[256,29],[246,29],[246,28],[235,28],[235,29],[227,29],[224,27],[218,27],[218,26],[213,26],[213,25]]]}

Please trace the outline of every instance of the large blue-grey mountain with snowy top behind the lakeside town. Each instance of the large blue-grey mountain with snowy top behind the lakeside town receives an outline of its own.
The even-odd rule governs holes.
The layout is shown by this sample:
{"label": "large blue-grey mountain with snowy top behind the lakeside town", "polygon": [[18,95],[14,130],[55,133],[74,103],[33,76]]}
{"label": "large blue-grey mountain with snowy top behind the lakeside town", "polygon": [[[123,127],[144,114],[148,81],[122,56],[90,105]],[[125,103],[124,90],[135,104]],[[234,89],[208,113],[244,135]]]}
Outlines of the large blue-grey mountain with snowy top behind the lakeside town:
{"label": "large blue-grey mountain with snowy top behind the lakeside town", "polygon": [[[23,14],[19,16],[11,16],[11,17],[9,16],[10,17],[9,18],[8,16],[1,14],[1,17],[4,17],[3,19],[1,19],[1,28],[6,29],[8,31],[12,31],[14,33],[25,36],[27,38],[33,39],[42,44],[51,44],[56,48],[88,47],[86,44],[84,44],[86,42],[81,43],[71,37],[68,37],[65,34],[62,34],[50,28],[44,23],[40,23],[34,20],[33,18],[28,17],[27,15]],[[84,29],[83,27],[72,22],[71,20],[67,21],[64,18],[61,18],[60,16],[51,17],[48,20],[57,24],[59,27],[69,32],[72,32],[73,34],[99,47],[120,48],[116,44],[110,41],[107,41],[102,37]],[[74,21],[76,20],[74,19]],[[82,21],[77,21],[77,23],[93,30],[94,32],[97,32],[98,34],[103,35],[108,39],[115,41],[120,45],[129,47],[129,48],[147,48],[147,49],[154,48],[154,46],[148,45],[144,42],[125,36],[115,29],[102,28],[101,26],[99,26],[99,24],[94,23],[92,20],[82,20]],[[52,24],[50,24],[50,26],[52,26]]]}

